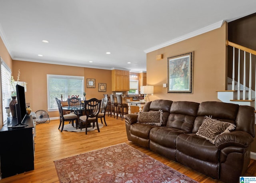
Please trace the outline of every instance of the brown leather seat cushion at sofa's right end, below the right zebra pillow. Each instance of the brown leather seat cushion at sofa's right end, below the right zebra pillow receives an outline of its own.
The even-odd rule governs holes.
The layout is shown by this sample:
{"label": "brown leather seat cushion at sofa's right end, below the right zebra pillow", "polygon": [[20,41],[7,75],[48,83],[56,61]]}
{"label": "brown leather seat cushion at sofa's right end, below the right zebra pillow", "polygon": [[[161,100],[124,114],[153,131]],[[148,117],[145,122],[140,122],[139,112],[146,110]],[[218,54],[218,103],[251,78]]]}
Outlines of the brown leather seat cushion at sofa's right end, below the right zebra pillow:
{"label": "brown leather seat cushion at sofa's right end, below the right zebra pillow", "polygon": [[178,151],[187,156],[206,162],[218,163],[219,149],[210,141],[194,133],[180,134],[177,137],[176,146]]}

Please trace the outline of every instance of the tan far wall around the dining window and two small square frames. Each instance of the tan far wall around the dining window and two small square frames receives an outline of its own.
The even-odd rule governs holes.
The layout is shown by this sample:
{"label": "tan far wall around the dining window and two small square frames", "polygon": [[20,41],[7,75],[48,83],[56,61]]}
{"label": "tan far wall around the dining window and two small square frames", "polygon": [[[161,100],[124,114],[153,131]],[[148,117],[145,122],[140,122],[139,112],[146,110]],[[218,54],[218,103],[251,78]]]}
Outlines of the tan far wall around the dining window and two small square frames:
{"label": "tan far wall around the dining window and two small square frames", "polygon": [[[111,70],[91,69],[36,62],[13,61],[13,76],[20,70],[20,81],[27,82],[26,102],[30,102],[32,111],[47,111],[47,74],[84,76],[86,98],[101,99],[103,93],[111,93]],[[86,88],[86,78],[96,79],[95,88]],[[98,83],[107,84],[107,92],[98,92]],[[57,117],[58,111],[49,111],[50,117]]]}

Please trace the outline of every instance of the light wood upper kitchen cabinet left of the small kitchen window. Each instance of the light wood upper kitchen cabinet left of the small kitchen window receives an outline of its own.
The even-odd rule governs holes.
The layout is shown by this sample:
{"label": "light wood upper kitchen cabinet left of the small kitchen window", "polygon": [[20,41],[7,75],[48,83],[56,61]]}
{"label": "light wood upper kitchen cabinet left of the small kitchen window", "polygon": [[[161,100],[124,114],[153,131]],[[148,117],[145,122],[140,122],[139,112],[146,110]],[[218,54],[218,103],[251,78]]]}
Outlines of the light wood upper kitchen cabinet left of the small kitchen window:
{"label": "light wood upper kitchen cabinet left of the small kitchen window", "polygon": [[130,72],[123,70],[112,70],[112,91],[130,90]]}

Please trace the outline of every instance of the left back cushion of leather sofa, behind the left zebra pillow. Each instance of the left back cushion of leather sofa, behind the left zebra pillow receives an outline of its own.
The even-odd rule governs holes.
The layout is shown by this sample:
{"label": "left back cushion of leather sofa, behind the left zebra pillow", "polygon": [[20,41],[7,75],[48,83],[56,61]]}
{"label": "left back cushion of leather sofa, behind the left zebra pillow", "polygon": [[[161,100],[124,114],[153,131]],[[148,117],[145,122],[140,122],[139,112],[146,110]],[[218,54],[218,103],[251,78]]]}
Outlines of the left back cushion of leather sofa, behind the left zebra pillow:
{"label": "left back cushion of leather sofa, behind the left zebra pillow", "polygon": [[158,99],[158,100],[149,101],[145,103],[142,111],[143,112],[159,111],[159,109],[161,109],[163,111],[162,126],[166,126],[166,122],[170,114],[171,105],[172,105],[171,100]]}

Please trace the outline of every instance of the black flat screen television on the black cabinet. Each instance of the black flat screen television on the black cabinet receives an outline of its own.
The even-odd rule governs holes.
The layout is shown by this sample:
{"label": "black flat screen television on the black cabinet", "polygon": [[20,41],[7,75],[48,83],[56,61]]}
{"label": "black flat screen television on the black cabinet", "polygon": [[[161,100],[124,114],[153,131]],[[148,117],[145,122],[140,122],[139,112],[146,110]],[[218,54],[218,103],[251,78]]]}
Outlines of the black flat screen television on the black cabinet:
{"label": "black flat screen television on the black cabinet", "polygon": [[[16,103],[16,115],[17,115],[17,124],[24,125],[22,123],[26,117],[26,99],[25,99],[25,88],[20,85],[16,85],[17,101]],[[14,126],[16,126],[14,125]]]}

